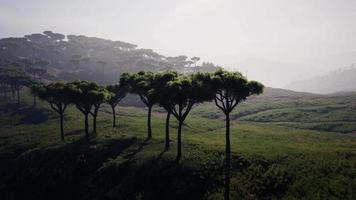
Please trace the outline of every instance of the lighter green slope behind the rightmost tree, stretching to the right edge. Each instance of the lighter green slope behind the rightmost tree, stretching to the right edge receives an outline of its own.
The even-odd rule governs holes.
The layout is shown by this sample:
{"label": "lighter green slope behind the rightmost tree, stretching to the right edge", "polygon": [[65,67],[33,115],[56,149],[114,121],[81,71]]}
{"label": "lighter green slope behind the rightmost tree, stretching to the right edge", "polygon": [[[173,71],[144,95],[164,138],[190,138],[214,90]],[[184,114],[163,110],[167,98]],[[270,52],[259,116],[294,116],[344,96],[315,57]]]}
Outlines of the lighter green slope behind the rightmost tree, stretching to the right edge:
{"label": "lighter green slope behind the rightmost tree, stretching to the right edge", "polygon": [[[356,130],[356,93],[315,95],[267,88],[234,111],[242,121],[273,123],[282,126],[350,133]],[[213,104],[193,113],[209,118],[220,117]]]}

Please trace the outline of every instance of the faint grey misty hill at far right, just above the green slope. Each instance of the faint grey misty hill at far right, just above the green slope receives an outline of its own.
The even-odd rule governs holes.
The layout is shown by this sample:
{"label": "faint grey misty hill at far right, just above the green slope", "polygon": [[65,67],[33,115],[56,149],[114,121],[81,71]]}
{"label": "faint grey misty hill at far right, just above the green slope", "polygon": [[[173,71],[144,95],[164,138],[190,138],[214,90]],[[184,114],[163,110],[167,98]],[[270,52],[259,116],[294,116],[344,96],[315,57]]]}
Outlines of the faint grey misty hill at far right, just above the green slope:
{"label": "faint grey misty hill at far right, just above the green slope", "polygon": [[296,91],[312,93],[335,93],[356,91],[356,65],[348,69],[331,71],[327,75],[296,81],[286,86]]}

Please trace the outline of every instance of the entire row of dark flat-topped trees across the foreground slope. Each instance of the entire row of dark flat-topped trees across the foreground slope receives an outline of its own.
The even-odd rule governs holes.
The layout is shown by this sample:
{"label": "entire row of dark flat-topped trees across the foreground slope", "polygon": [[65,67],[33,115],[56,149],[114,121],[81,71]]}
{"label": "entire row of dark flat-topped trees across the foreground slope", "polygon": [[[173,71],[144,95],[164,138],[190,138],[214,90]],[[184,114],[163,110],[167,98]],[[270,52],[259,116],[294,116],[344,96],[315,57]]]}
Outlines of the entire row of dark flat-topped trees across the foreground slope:
{"label": "entire row of dark flat-topped trees across the foreground slope", "polygon": [[182,127],[194,105],[214,101],[226,118],[226,160],[225,160],[225,199],[230,190],[230,113],[250,95],[263,92],[264,86],[256,81],[248,81],[239,72],[219,69],[211,72],[197,72],[189,75],[175,71],[153,73],[141,71],[124,73],[118,85],[100,86],[93,82],[75,81],[71,83],[37,84],[32,87],[34,94],[48,101],[60,116],[61,139],[64,140],[63,116],[69,104],[81,111],[85,117],[85,136],[89,140],[88,116],[93,117],[93,132],[96,133],[96,117],[101,104],[107,103],[113,111],[115,127],[115,107],[127,95],[137,94],[147,106],[147,139],[152,138],[151,113],[154,105],[167,112],[165,130],[165,150],[170,148],[170,117],[178,121],[177,155],[182,156]]}

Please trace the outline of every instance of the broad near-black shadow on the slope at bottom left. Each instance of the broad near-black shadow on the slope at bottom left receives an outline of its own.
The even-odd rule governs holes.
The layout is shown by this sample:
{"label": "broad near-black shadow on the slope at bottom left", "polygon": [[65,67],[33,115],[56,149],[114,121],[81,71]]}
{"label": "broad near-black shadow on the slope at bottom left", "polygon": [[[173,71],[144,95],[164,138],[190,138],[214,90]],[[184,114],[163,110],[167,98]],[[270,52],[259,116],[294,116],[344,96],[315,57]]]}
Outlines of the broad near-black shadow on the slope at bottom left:
{"label": "broad near-black shadow on the slope at bottom left", "polygon": [[110,139],[45,147],[23,153],[0,181],[2,199],[83,199],[81,192],[108,159],[136,138]]}

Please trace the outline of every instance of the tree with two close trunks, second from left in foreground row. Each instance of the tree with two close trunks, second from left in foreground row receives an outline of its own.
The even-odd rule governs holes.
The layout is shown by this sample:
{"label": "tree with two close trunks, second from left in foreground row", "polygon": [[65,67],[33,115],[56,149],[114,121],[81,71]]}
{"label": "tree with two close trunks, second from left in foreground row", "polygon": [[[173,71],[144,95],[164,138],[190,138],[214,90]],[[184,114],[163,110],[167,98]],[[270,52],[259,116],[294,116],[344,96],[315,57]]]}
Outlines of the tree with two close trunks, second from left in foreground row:
{"label": "tree with two close trunks, second from left in foreground row", "polygon": [[105,102],[108,92],[94,82],[74,81],[72,85],[71,102],[84,115],[85,138],[89,141],[89,114],[93,116],[93,133],[96,133],[96,117],[100,104]]}

